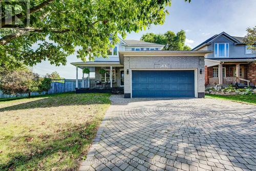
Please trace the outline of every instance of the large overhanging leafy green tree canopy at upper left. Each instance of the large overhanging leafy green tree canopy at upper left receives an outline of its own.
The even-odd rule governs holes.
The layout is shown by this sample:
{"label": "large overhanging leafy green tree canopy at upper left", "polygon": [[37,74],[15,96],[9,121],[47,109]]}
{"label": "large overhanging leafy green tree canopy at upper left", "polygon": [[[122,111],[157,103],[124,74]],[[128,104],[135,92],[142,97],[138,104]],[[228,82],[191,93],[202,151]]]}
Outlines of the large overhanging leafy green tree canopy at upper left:
{"label": "large overhanging leafy green tree canopy at upper left", "polygon": [[[165,7],[171,4],[171,0],[31,0],[29,5],[25,2],[0,1],[0,63],[15,66],[22,61],[33,66],[49,60],[52,65],[65,65],[66,57],[76,47],[77,57],[83,61],[86,56],[106,57],[110,47],[119,41],[118,34],[125,37],[127,32],[163,24],[168,14]],[[19,12],[8,16],[12,6]],[[13,22],[15,18],[19,22]]]}

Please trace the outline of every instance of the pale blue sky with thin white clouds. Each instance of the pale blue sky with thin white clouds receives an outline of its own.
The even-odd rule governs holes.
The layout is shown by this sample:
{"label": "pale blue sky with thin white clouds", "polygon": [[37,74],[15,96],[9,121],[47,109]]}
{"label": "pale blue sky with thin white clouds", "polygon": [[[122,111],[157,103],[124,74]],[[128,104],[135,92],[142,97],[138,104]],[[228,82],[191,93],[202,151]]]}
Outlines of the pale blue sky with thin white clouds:
{"label": "pale blue sky with thin white clouds", "polygon": [[[190,3],[173,0],[167,10],[169,15],[163,25],[127,34],[126,39],[139,40],[144,33],[165,33],[168,30],[177,33],[185,30],[185,44],[193,48],[223,31],[231,36],[245,36],[246,28],[256,25],[256,0],[191,0]],[[76,69],[70,62],[76,61],[81,60],[73,54],[67,58],[66,66],[56,67],[43,61],[34,66],[33,71],[40,75],[57,71],[63,78],[75,79]],[[79,70],[78,77],[81,76],[82,71]]]}

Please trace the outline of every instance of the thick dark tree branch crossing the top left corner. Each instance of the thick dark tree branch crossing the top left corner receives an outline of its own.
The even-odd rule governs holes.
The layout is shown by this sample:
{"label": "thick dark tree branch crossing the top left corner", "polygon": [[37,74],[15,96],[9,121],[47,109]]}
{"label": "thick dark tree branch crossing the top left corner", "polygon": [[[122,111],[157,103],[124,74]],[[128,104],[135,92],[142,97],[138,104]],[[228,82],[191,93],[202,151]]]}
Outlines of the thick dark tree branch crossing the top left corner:
{"label": "thick dark tree branch crossing the top left corner", "polygon": [[[48,4],[50,4],[52,1],[55,1],[55,0],[47,0],[45,2],[42,2],[41,4],[35,6],[35,7],[32,7],[29,9],[29,14],[32,14],[38,10],[40,10],[41,8],[44,8],[45,6],[47,6]],[[26,15],[26,14],[25,14]],[[23,13],[19,13],[19,14],[16,14],[16,15],[13,15],[12,17],[6,19],[5,16],[1,19],[1,27],[3,28],[3,26],[5,25],[9,25],[11,24],[14,20],[15,20],[15,17],[17,18],[22,18],[25,16]]]}

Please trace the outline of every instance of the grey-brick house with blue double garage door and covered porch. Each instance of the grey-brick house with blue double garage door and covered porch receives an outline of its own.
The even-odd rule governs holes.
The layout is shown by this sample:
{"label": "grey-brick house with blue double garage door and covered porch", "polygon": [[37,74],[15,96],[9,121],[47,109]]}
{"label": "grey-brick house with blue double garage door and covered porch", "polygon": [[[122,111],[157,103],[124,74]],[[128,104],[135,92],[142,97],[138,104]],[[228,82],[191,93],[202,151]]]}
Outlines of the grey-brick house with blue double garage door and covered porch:
{"label": "grey-brick house with blue double garage door and covered porch", "polygon": [[[204,97],[204,56],[211,51],[162,51],[163,47],[120,39],[109,58],[71,63],[77,72],[84,67],[95,72],[90,89],[79,88],[77,92],[122,90],[125,98]],[[100,69],[106,73],[99,74]]]}

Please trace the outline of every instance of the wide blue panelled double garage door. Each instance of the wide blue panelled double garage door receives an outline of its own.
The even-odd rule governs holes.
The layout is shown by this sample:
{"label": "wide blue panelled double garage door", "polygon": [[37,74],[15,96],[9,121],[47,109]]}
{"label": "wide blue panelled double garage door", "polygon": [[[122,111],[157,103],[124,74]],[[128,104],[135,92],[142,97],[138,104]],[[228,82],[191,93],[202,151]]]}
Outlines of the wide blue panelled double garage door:
{"label": "wide blue panelled double garage door", "polygon": [[195,97],[194,71],[133,71],[132,97]]}

